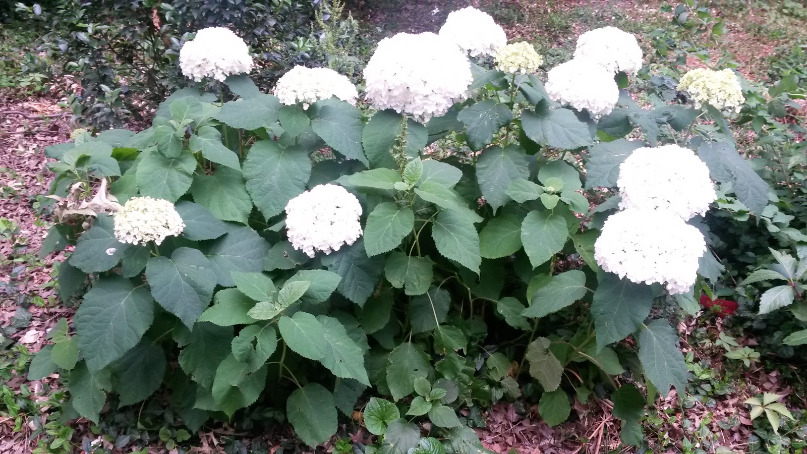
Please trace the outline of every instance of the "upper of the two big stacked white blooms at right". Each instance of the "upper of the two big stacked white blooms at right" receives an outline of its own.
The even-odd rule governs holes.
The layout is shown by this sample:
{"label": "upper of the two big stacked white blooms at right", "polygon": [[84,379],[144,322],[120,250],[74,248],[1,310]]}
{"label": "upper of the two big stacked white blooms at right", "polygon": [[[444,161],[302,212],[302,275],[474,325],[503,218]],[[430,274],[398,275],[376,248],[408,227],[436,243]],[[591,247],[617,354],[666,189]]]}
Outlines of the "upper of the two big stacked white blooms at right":
{"label": "upper of the two big stacked white blooms at right", "polygon": [[619,208],[665,210],[684,220],[705,214],[717,199],[709,168],[678,145],[640,148],[619,166]]}

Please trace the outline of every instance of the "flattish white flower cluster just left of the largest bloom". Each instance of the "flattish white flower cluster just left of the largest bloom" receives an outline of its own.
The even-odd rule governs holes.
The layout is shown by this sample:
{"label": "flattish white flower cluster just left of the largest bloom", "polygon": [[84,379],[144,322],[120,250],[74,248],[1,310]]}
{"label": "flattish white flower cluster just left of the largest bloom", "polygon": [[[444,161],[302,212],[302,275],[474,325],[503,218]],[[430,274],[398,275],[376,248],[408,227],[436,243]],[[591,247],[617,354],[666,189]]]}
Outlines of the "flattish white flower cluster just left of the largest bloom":
{"label": "flattish white flower cluster just left of the largest bloom", "polygon": [[274,86],[273,93],[286,106],[303,103],[303,109],[319,99],[330,99],[332,96],[353,105],[358,98],[356,87],[346,76],[333,69],[305,66],[295,66],[283,74]]}

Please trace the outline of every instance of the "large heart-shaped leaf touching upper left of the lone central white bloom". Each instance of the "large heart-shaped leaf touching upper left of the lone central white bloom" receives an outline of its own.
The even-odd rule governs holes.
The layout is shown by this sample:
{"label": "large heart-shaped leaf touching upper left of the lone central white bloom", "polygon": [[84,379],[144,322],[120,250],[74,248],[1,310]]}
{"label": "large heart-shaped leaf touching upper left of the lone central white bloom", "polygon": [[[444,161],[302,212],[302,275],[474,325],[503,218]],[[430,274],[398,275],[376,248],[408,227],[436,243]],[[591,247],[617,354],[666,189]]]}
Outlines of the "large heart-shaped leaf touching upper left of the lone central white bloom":
{"label": "large heart-shaped leaf touching upper left of the lone central white bloom", "polygon": [[311,158],[305,149],[282,149],[277,142],[259,141],[249,149],[244,176],[249,195],[269,220],[305,191],[311,177]]}

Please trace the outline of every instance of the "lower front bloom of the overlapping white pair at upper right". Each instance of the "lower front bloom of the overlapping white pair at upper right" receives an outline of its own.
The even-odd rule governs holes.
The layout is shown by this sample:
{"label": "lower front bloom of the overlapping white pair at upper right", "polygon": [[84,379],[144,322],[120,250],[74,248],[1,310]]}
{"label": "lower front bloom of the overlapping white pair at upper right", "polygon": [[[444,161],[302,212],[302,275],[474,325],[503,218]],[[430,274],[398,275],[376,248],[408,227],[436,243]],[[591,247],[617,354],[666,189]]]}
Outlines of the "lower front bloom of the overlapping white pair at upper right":
{"label": "lower front bloom of the overlapping white pair at upper right", "polygon": [[619,100],[613,73],[587,60],[573,58],[550,69],[546,81],[550,99],[586,109],[593,116],[608,115]]}

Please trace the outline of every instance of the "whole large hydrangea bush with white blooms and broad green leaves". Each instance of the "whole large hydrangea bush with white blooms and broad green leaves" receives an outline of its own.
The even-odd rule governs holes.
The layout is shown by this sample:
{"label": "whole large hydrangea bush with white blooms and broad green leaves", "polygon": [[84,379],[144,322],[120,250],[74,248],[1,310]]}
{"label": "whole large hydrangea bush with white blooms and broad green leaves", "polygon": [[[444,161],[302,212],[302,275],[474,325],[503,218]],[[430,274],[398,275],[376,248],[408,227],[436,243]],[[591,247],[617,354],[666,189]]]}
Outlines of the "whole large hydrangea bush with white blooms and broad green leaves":
{"label": "whole large hydrangea bush with white blooms and broad green leaves", "polygon": [[466,51],[492,53],[493,33],[402,33],[366,66],[364,103],[330,76],[281,79],[278,99],[239,68],[236,100],[179,90],[142,132],[48,148],[56,198],[108,180],[122,208],[48,235],[45,252],[75,244],[59,284],[80,302],[31,376],[61,368],[93,421],[158,390],[192,429],[261,401],[312,446],[368,395],[379,452],[407,453],[478,452],[456,410],[521,393],[559,424],[605,374],[641,443],[642,402],[687,380],[652,309],[692,311],[721,275],[700,219],[713,181],[754,213],[768,187],[725,102],[619,91],[639,63],[617,32],[594,35],[597,61],[581,37],[546,86],[526,44],[491,69]]}

